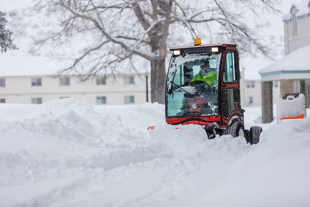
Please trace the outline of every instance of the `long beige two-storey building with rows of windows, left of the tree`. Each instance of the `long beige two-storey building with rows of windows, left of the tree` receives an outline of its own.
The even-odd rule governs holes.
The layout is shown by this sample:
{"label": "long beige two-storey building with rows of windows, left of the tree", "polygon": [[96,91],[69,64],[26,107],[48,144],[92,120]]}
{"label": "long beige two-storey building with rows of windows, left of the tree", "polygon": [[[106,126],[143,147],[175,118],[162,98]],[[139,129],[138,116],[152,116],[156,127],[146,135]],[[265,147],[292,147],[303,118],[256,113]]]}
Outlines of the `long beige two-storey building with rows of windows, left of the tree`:
{"label": "long beige two-storey building with rows of windows, left of the tree", "polygon": [[[150,96],[150,92],[148,94]],[[98,76],[85,82],[74,76],[0,76],[1,103],[40,104],[66,97],[90,104],[143,103],[146,101],[145,74],[117,78]]]}

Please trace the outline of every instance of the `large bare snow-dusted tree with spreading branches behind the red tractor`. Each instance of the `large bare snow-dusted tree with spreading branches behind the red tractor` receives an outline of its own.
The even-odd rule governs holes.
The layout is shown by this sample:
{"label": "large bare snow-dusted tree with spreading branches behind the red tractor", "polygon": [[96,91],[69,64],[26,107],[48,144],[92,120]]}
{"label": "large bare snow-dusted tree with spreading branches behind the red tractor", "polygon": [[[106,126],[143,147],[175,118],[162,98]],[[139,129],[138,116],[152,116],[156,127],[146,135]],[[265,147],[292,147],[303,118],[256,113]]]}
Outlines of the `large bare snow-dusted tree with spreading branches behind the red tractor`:
{"label": "large bare snow-dusted tree with spreading branches behind the red tractor", "polygon": [[37,39],[36,45],[52,42],[54,47],[61,47],[67,42],[81,43],[71,65],[58,75],[78,71],[83,80],[102,70],[137,67],[135,60],[143,58],[151,66],[151,100],[163,103],[169,37],[208,34],[209,39],[238,43],[245,52],[258,51],[270,57],[268,44],[243,18],[244,12],[276,13],[278,1],[40,0],[36,9],[57,17],[59,27]]}

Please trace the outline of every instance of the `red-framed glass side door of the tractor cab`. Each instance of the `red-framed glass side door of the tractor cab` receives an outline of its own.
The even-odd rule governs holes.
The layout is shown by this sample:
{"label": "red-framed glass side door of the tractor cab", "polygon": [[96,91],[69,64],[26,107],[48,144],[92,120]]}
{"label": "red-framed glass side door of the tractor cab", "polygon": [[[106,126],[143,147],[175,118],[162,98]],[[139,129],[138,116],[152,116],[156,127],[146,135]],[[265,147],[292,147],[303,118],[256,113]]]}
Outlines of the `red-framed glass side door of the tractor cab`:
{"label": "red-framed glass side door of the tractor cab", "polygon": [[228,124],[232,116],[240,117],[239,58],[236,47],[227,47],[222,70],[222,120]]}

